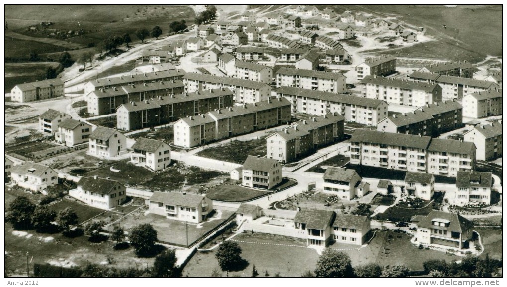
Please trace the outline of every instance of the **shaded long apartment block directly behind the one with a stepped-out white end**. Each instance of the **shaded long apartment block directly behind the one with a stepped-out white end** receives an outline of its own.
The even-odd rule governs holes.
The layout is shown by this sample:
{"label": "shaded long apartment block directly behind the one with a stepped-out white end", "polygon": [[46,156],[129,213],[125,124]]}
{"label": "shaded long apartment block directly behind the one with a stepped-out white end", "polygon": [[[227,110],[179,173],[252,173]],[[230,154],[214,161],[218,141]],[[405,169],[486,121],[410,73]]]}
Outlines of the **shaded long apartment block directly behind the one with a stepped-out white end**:
{"label": "shaded long apartment block directly behind the one with a stepped-out white end", "polygon": [[122,104],[116,110],[117,127],[135,130],[163,125],[234,104],[228,88],[170,94],[140,102]]}

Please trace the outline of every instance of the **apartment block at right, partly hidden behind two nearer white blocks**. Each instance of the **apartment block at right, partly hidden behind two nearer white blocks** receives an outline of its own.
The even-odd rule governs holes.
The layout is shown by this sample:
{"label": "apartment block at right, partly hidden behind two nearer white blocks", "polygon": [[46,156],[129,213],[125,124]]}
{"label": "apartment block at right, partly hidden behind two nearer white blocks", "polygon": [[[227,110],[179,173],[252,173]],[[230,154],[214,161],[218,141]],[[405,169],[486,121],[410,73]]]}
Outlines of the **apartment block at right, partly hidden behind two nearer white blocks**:
{"label": "apartment block at right, partly hidden behind two nearer white blocks", "polygon": [[444,99],[461,100],[464,95],[485,90],[499,89],[495,82],[475,80],[470,78],[460,78],[453,76],[443,76],[439,74],[413,72],[410,79],[418,82],[428,82],[438,84],[442,87],[442,97]]}

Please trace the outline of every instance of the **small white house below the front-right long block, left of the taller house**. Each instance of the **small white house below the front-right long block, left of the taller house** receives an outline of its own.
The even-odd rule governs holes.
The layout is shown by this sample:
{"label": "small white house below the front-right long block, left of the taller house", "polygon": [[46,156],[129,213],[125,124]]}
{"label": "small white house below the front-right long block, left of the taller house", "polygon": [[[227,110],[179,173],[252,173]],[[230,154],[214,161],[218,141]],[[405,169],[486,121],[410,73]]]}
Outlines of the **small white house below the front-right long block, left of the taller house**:
{"label": "small white house below the front-right long block, left of the taller house", "polygon": [[423,200],[431,200],[435,190],[435,176],[427,173],[405,173],[405,190],[408,196],[415,196]]}

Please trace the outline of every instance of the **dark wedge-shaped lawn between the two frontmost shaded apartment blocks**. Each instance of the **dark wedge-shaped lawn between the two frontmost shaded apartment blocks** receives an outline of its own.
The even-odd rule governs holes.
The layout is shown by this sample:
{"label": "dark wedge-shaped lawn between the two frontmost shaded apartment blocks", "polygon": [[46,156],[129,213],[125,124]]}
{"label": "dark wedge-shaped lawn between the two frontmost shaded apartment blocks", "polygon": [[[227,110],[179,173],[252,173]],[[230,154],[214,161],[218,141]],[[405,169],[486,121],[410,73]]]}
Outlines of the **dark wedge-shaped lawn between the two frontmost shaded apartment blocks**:
{"label": "dark wedge-shaped lawn between the two frontmost shaded apartment blocks", "polygon": [[267,153],[266,145],[266,136],[248,141],[233,140],[231,142],[224,143],[221,146],[205,149],[196,155],[242,164],[248,155],[265,156]]}

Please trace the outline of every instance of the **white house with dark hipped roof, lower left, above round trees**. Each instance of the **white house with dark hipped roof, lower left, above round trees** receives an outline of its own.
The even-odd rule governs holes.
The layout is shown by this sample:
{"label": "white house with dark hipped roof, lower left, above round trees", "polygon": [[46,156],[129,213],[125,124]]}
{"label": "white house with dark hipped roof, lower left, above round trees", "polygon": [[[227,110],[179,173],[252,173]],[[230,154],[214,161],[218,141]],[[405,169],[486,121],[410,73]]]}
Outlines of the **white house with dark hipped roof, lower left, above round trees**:
{"label": "white house with dark hipped roof, lower left, above round trees", "polygon": [[127,201],[126,187],[116,180],[94,177],[81,177],[78,187],[68,192],[70,197],[89,206],[112,209]]}

